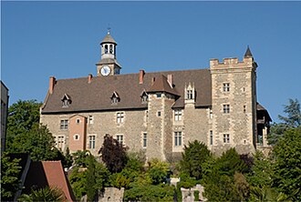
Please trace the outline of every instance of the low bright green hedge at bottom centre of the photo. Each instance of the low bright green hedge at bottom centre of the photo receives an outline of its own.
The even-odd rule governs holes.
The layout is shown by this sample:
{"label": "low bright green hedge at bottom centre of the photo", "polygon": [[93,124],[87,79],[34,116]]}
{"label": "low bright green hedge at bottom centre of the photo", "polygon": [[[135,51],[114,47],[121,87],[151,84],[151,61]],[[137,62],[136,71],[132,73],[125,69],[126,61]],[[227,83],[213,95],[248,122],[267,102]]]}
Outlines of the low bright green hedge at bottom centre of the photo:
{"label": "low bright green hedge at bottom centre of the photo", "polygon": [[124,192],[124,201],[173,201],[175,188],[169,185],[134,185]]}

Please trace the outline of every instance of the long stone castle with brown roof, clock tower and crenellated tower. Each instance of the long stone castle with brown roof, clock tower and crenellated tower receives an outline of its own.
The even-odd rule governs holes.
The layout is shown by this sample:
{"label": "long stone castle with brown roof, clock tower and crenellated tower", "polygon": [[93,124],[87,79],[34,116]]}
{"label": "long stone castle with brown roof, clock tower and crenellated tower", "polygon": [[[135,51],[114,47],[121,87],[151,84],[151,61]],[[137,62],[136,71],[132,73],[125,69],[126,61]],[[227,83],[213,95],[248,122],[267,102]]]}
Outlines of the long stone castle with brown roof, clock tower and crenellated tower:
{"label": "long stone castle with brown roof, clock tower and crenellated tower", "polygon": [[217,154],[266,145],[271,118],[257,103],[257,65],[249,47],[243,61],[211,59],[207,69],[122,75],[116,46],[108,32],[97,76],[50,77],[40,122],[62,151],[87,149],[97,156],[107,134],[161,160],[179,157],[195,139]]}

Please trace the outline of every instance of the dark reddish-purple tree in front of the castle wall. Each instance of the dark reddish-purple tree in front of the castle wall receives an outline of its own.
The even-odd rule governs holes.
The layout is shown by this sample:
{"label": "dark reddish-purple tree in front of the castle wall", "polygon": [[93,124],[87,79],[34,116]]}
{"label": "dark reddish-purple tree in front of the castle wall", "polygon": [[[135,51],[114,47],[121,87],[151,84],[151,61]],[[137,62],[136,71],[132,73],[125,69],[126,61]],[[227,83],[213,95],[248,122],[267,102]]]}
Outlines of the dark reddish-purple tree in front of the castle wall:
{"label": "dark reddish-purple tree in front of the castle wall", "polygon": [[127,164],[126,148],[108,134],[104,137],[99,154],[111,173],[120,172]]}

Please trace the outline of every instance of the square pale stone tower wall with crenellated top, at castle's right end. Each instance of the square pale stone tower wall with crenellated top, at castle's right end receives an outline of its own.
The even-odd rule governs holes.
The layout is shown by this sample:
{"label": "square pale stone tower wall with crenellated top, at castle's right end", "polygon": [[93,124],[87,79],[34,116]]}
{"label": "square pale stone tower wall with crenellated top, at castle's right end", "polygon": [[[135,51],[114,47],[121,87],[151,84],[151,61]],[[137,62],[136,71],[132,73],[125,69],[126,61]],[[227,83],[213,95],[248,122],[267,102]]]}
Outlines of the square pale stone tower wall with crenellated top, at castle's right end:
{"label": "square pale stone tower wall with crenellated top, at castle's right end", "polygon": [[[236,146],[239,153],[254,151],[255,136],[255,77],[253,58],[217,59],[210,61],[213,90],[213,151],[221,154]],[[230,91],[223,92],[223,84],[230,84]],[[230,113],[223,113],[223,105],[230,106]],[[224,143],[223,134],[230,135]]]}

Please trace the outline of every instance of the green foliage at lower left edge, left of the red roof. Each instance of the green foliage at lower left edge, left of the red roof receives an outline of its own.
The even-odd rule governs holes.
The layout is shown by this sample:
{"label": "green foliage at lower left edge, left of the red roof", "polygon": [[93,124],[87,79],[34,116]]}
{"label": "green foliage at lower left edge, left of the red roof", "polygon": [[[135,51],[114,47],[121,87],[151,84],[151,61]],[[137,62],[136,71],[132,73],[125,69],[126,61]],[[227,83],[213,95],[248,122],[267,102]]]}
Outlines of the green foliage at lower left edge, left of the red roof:
{"label": "green foliage at lower left edge, left of the red roof", "polygon": [[12,201],[19,188],[18,179],[21,167],[18,165],[20,159],[11,159],[7,154],[1,157],[1,200]]}

